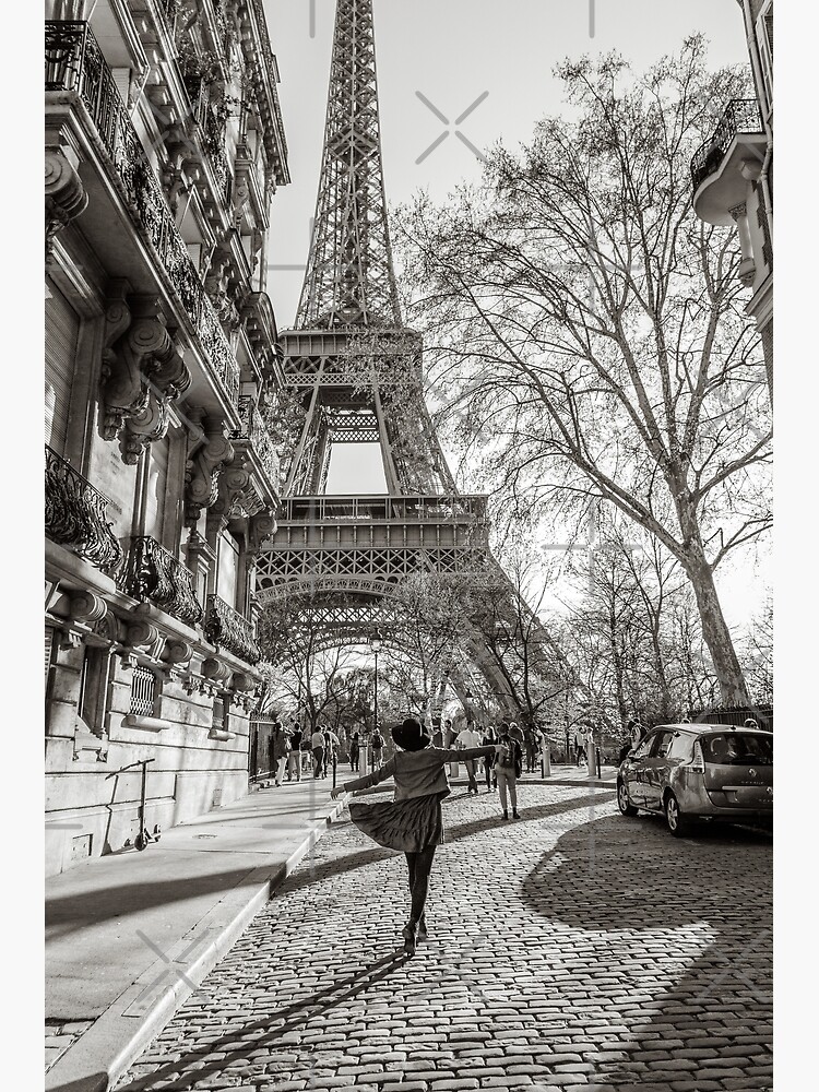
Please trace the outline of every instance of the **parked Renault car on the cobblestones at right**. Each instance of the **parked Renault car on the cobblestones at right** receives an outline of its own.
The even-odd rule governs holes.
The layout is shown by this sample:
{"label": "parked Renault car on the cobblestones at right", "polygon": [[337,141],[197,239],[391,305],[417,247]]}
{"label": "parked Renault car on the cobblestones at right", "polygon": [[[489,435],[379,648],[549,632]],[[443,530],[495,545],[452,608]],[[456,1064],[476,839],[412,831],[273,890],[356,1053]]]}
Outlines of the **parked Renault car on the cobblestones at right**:
{"label": "parked Renault car on the cobblestones at right", "polygon": [[672,834],[702,819],[773,816],[773,733],[731,724],[660,724],[617,773],[624,816],[660,811]]}

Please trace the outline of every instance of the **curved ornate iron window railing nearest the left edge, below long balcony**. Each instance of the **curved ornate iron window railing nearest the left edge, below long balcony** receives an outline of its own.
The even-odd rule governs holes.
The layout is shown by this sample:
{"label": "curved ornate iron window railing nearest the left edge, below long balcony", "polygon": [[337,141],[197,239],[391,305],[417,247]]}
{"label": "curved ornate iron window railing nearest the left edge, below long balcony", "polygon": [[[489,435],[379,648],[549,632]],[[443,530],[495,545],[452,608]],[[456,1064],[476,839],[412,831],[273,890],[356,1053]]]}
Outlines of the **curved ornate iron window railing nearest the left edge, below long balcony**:
{"label": "curved ornate iron window railing nearest the left edge, below long balcony", "polygon": [[122,561],[122,547],[107,508],[107,497],[46,444],[46,534],[110,573]]}

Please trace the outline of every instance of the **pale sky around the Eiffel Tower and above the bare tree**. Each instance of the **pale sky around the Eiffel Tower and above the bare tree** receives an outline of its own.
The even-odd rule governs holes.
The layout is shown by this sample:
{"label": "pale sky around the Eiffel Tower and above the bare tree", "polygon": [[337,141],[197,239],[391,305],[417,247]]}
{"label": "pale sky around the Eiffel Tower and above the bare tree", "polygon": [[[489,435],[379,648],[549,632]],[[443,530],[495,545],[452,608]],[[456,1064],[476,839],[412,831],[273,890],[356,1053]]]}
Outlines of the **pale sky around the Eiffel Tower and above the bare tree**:
{"label": "pale sky around the Eiffel Tower and above the bare tree", "polygon": [[[268,256],[274,266],[296,266],[268,274],[280,329],[286,329],[298,305],[316,204],[335,3],[264,0],[264,5],[282,78],[293,178],[273,200]],[[479,178],[480,162],[454,138],[455,128],[477,149],[500,139],[510,147],[527,141],[539,118],[563,108],[561,84],[553,75],[563,58],[616,49],[640,71],[702,32],[713,68],[748,63],[736,0],[375,0],[375,20],[391,205],[422,189],[442,199],[459,182]],[[425,156],[447,126],[417,93],[450,121],[480,102]],[[336,449],[328,491],[383,489],[370,450]],[[750,556],[737,571],[723,571],[733,622],[745,622],[757,608],[767,574],[767,561]]]}

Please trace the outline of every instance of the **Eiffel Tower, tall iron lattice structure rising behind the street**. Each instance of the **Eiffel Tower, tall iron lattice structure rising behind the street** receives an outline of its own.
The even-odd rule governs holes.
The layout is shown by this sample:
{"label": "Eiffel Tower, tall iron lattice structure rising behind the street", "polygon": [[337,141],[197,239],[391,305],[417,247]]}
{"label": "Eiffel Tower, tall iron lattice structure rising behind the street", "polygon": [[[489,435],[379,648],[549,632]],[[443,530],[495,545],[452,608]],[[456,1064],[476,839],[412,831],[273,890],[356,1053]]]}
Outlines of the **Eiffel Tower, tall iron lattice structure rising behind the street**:
{"label": "Eiffel Tower, tall iron lattice structure rising behind the street", "polygon": [[[324,147],[295,329],[281,334],[284,393],[304,415],[277,530],[257,565],[259,602],[321,596],[328,644],[396,639],[396,586],[413,573],[484,575],[487,500],[463,495],[423,396],[418,333],[402,319],[384,198],[372,0],[337,0]],[[334,444],[378,443],[387,494],[327,494]],[[511,585],[510,585],[511,591]],[[470,634],[472,657],[517,702]],[[474,676],[473,676],[474,677]],[[451,665],[463,700],[470,668]]]}

